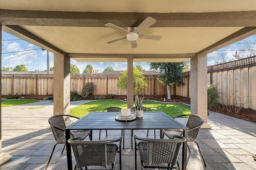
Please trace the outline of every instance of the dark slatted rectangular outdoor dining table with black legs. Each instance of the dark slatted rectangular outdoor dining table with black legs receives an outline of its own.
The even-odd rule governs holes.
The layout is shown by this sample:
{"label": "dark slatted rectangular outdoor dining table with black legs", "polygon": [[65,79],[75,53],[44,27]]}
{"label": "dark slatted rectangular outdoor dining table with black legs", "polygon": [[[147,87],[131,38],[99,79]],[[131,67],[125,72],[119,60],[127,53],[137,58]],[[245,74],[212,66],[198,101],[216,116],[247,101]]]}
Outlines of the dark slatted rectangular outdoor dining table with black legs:
{"label": "dark slatted rectangular outdoor dining table with black legs", "polygon": [[[91,130],[91,137],[94,130],[126,130],[126,129],[160,129],[160,138],[163,138],[163,129],[182,129],[183,135],[187,139],[188,128],[172,117],[160,111],[144,111],[143,117],[132,121],[120,121],[115,119],[117,112],[91,112],[80,118],[78,121],[66,127],[66,150],[68,170],[72,170],[71,146],[68,143],[70,131],[72,130]],[[91,138],[93,139],[93,138]],[[121,160],[120,160],[121,164]],[[182,170],[186,170],[187,164],[187,141],[182,145]],[[121,165],[120,165],[121,166]]]}

